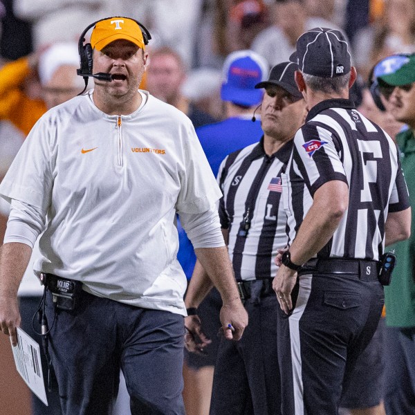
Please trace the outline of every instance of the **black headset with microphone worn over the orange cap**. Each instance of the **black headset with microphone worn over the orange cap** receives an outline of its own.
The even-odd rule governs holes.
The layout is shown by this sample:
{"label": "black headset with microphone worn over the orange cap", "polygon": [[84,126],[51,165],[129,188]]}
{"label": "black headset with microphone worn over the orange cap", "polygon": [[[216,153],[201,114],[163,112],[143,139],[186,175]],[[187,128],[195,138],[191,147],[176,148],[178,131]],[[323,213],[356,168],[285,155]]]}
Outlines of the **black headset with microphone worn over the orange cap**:
{"label": "black headset with microphone worn over the orange cap", "polygon": [[135,21],[136,24],[138,24],[138,27],[141,30],[142,33],[142,39],[144,41],[144,44],[147,45],[149,43],[149,40],[151,39],[151,35],[147,28],[145,28],[144,25],[140,24],[139,21],[135,19],[131,19],[131,17],[122,17],[122,16],[114,16],[114,17],[105,17],[104,19],[100,19],[97,21],[94,21],[91,23],[80,35],[80,40],[78,42],[78,53],[80,54],[80,68],[76,70],[77,75],[80,75],[84,78],[85,82],[85,88],[84,91],[79,93],[78,95],[82,95],[86,91],[86,87],[88,86],[88,78],[94,77],[98,80],[111,82],[112,81],[112,75],[111,73],[104,73],[104,72],[98,72],[98,73],[92,73],[92,65],[93,65],[93,48],[90,43],[85,42],[85,35],[88,32],[89,29],[95,27],[95,24],[99,23],[100,21],[108,20],[108,19],[129,19],[132,21]]}

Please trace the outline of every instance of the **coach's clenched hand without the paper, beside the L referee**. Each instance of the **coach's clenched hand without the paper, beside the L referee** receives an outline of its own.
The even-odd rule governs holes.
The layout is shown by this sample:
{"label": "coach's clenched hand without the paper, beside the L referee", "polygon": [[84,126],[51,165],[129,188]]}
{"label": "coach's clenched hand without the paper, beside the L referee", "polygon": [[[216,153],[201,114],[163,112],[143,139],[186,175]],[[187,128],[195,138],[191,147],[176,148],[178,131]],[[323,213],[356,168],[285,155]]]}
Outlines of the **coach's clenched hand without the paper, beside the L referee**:
{"label": "coach's clenched hand without the paper, beside the L referee", "polygon": [[246,313],[241,299],[236,298],[230,302],[223,302],[220,317],[225,338],[240,340],[243,330],[248,326],[248,313]]}

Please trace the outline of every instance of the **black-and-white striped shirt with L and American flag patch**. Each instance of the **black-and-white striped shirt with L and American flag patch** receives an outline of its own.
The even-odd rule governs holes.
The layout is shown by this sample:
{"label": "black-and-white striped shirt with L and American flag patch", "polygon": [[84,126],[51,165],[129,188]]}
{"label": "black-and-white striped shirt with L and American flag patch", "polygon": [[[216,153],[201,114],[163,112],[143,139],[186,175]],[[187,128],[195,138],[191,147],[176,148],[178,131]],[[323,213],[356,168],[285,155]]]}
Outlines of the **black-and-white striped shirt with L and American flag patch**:
{"label": "black-and-white striped shirt with L and American flag patch", "polygon": [[293,148],[290,140],[272,156],[259,143],[223,160],[218,181],[222,228],[229,231],[228,251],[237,280],[273,278],[277,248],[287,243],[281,201],[281,172]]}

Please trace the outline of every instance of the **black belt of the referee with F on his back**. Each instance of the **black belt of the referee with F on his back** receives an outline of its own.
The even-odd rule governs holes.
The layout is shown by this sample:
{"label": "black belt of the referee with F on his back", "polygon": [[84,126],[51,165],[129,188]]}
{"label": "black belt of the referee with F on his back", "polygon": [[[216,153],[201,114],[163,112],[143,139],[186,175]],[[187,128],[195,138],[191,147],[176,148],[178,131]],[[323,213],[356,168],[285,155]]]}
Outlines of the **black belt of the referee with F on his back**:
{"label": "black belt of the referee with F on his back", "polygon": [[374,281],[378,279],[379,270],[379,261],[369,261],[367,259],[313,258],[302,266],[299,273],[356,275],[362,280]]}

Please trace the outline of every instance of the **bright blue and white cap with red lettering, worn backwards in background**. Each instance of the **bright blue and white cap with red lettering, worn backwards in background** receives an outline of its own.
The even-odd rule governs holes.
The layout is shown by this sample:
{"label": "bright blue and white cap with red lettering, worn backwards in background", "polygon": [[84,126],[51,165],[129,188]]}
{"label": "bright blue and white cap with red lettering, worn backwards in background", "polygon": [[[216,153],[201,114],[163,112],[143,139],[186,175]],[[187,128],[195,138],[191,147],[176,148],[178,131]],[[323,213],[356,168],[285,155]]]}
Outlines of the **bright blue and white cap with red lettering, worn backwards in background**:
{"label": "bright blue and white cap with red lettering, worn backwards in background", "polygon": [[266,59],[252,50],[230,53],[223,64],[221,99],[245,107],[259,104],[264,92],[255,85],[266,80],[268,71]]}

